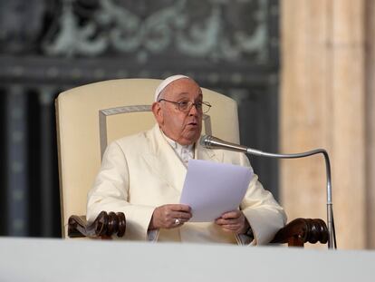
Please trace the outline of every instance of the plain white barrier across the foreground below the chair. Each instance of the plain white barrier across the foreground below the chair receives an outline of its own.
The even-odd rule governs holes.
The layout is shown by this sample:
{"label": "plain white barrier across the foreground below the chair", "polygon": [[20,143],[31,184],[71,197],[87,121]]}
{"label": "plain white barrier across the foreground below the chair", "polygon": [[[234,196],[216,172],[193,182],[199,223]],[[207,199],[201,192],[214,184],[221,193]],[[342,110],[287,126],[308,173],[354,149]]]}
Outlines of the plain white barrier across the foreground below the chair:
{"label": "plain white barrier across the foreground below the chair", "polygon": [[0,238],[0,281],[375,281],[375,251]]}

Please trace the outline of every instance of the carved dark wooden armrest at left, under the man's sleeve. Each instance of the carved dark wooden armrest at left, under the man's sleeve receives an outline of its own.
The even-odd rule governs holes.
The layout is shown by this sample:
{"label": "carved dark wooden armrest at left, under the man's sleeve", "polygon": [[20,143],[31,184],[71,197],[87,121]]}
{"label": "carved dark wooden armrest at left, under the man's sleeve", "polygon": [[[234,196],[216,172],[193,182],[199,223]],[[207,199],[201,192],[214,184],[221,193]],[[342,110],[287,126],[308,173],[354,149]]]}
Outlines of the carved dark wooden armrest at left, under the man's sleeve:
{"label": "carved dark wooden armrest at left, under the man's sleeve", "polygon": [[85,216],[71,216],[68,220],[68,236],[70,238],[111,238],[112,235],[123,237],[125,230],[126,219],[122,212],[101,211],[90,224],[86,221]]}

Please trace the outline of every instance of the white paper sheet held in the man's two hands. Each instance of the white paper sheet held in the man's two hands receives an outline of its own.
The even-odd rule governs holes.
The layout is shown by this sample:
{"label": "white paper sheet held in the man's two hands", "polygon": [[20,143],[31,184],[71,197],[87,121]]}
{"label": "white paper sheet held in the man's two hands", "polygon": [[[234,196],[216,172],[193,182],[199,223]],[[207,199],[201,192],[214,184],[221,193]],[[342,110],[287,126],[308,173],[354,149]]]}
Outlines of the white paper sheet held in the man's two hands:
{"label": "white paper sheet held in the man's two hands", "polygon": [[250,168],[208,160],[189,160],[180,203],[192,209],[190,222],[209,222],[238,209],[253,178]]}

